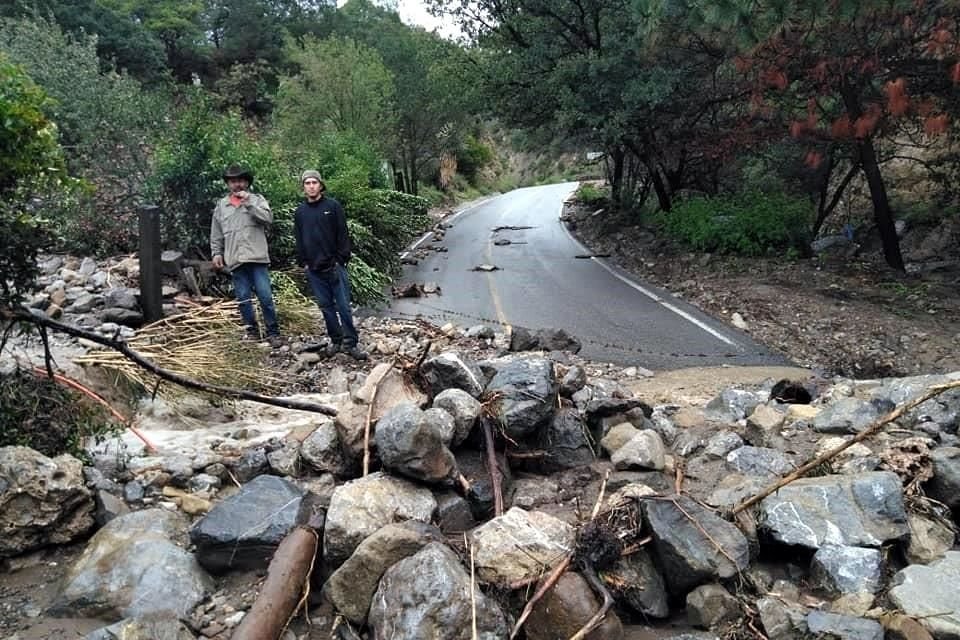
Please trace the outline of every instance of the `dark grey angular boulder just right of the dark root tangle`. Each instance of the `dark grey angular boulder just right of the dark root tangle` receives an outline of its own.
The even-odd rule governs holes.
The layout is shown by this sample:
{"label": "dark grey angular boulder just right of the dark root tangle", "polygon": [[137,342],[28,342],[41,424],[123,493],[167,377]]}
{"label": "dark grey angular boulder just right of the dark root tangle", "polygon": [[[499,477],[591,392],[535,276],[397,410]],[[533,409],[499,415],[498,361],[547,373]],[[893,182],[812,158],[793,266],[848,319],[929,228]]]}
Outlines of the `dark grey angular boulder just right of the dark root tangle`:
{"label": "dark grey angular boulder just right of the dark root tangle", "polygon": [[750,547],[740,529],[690,498],[648,499],[641,506],[654,557],[674,595],[732,578],[749,565]]}

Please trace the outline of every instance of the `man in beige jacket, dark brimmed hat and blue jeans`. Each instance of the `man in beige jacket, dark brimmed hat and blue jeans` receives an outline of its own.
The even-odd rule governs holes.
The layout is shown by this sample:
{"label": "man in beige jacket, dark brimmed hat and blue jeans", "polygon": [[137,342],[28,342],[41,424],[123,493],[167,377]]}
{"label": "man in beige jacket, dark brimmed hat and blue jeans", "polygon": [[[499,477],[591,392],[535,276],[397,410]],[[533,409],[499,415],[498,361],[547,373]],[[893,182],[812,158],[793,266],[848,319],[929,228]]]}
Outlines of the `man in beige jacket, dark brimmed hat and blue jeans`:
{"label": "man in beige jacket, dark brimmed hat and blue jeans", "polygon": [[213,267],[226,269],[233,279],[233,290],[240,302],[240,315],[247,336],[260,338],[257,316],[253,310],[253,294],[260,301],[267,339],[279,342],[280,325],[270,288],[270,254],[267,231],[273,224],[273,212],[263,196],[250,193],[253,173],[231,166],[223,173],[230,193],[220,199],[210,223],[210,253]]}

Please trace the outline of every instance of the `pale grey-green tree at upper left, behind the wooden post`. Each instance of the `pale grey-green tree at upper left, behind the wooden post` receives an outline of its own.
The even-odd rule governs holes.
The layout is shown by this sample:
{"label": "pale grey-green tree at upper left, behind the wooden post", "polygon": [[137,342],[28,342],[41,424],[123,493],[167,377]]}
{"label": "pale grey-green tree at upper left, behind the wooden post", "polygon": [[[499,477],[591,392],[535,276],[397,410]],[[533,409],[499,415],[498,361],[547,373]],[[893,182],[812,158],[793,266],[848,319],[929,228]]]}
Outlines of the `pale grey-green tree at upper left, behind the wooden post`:
{"label": "pale grey-green tree at upper left, behind the wooden post", "polygon": [[92,187],[54,217],[62,239],[76,251],[135,248],[136,206],[150,172],[150,141],[166,117],[165,97],[103,71],[95,37],[75,38],[46,20],[0,20],[0,51],[53,98],[42,108],[57,123],[70,172]]}

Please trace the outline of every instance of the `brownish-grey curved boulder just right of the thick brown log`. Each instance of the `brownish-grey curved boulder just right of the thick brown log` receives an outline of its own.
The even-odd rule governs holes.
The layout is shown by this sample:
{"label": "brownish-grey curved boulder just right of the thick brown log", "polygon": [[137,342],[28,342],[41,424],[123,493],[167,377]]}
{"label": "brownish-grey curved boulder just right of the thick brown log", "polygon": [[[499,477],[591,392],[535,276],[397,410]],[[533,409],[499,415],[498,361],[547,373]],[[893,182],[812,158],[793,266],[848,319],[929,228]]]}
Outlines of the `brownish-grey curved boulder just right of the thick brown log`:
{"label": "brownish-grey curved boulder just right of the thick brown log", "polygon": [[334,571],[323,595],[347,620],[362,626],[384,572],[431,542],[443,542],[443,534],[429,524],[410,520],[381,527]]}

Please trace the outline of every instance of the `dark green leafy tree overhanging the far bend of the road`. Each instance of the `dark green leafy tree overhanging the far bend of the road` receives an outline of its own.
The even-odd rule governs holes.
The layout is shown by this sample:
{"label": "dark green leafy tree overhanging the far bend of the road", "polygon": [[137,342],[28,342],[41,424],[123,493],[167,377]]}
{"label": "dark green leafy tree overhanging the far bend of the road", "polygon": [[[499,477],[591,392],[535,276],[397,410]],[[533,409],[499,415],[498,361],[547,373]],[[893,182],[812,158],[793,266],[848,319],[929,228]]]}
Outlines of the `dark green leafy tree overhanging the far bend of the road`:
{"label": "dark green leafy tree overhanging the far bend of the road", "polygon": [[507,122],[606,151],[615,205],[715,188],[731,91],[721,51],[673,30],[648,45],[631,0],[461,0],[457,16]]}

